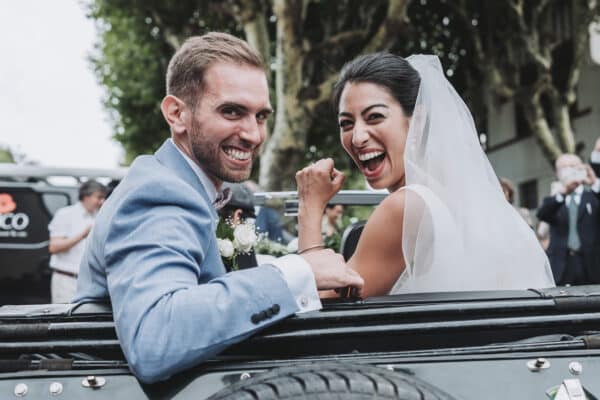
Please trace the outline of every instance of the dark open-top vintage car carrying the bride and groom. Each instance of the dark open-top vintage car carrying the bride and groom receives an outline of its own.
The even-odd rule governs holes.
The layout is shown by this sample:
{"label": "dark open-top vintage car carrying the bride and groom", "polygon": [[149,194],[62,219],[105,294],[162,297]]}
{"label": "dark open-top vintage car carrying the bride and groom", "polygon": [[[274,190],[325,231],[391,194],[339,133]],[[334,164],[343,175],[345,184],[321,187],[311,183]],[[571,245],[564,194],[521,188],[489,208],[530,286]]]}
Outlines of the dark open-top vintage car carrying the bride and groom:
{"label": "dark open-top vintage car carrying the bride and groom", "polygon": [[0,307],[2,399],[583,400],[599,377],[594,285],[324,300],[151,385],[129,371],[109,304]]}

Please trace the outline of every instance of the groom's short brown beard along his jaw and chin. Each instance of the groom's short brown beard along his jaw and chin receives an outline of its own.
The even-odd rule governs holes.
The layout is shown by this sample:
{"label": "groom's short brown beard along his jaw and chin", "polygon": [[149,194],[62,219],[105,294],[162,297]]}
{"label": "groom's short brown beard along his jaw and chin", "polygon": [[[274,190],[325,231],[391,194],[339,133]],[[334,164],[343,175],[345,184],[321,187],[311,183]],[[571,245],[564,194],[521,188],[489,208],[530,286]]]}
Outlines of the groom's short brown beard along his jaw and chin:
{"label": "groom's short brown beard along his jaw and chin", "polygon": [[195,120],[192,120],[189,133],[192,153],[204,172],[225,182],[243,182],[250,177],[252,165],[247,170],[232,170],[221,163],[219,159],[220,143],[208,140]]}

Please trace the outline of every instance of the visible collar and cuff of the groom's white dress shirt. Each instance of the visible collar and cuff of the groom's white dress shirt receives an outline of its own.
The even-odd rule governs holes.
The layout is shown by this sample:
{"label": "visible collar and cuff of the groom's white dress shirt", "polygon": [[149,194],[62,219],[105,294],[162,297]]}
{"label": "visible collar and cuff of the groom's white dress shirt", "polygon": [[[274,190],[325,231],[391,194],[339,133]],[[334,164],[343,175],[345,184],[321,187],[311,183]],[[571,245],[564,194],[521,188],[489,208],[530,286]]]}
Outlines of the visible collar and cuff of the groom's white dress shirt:
{"label": "visible collar and cuff of the groom's white dress shirt", "polygon": [[[172,140],[172,139],[169,139]],[[217,198],[217,188],[206,173],[191,160],[175,143],[173,143],[179,153],[190,165],[192,170],[198,175],[202,186],[208,192],[208,196],[211,202],[214,202]],[[319,299],[319,293],[317,291],[317,285],[315,282],[315,276],[312,269],[304,260],[296,254],[289,254],[287,256],[274,258],[270,263],[274,266],[285,280],[288,288],[292,292],[292,295],[296,299],[296,304],[300,311],[298,313],[320,310],[322,308],[321,300]]]}

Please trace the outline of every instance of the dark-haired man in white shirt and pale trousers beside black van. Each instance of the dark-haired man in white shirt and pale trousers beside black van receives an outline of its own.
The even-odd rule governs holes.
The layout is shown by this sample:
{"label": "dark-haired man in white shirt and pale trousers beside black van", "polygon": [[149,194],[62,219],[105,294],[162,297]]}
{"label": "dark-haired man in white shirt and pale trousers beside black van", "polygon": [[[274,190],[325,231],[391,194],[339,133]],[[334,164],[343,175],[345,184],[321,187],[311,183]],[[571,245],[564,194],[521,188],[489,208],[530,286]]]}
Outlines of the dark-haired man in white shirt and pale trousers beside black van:
{"label": "dark-haired man in white shirt and pale trousers beside black van", "polygon": [[79,263],[96,213],[102,206],[107,188],[95,180],[84,182],[79,188],[79,201],[63,207],[48,225],[48,249],[52,278],[50,292],[53,303],[69,303],[77,290]]}

